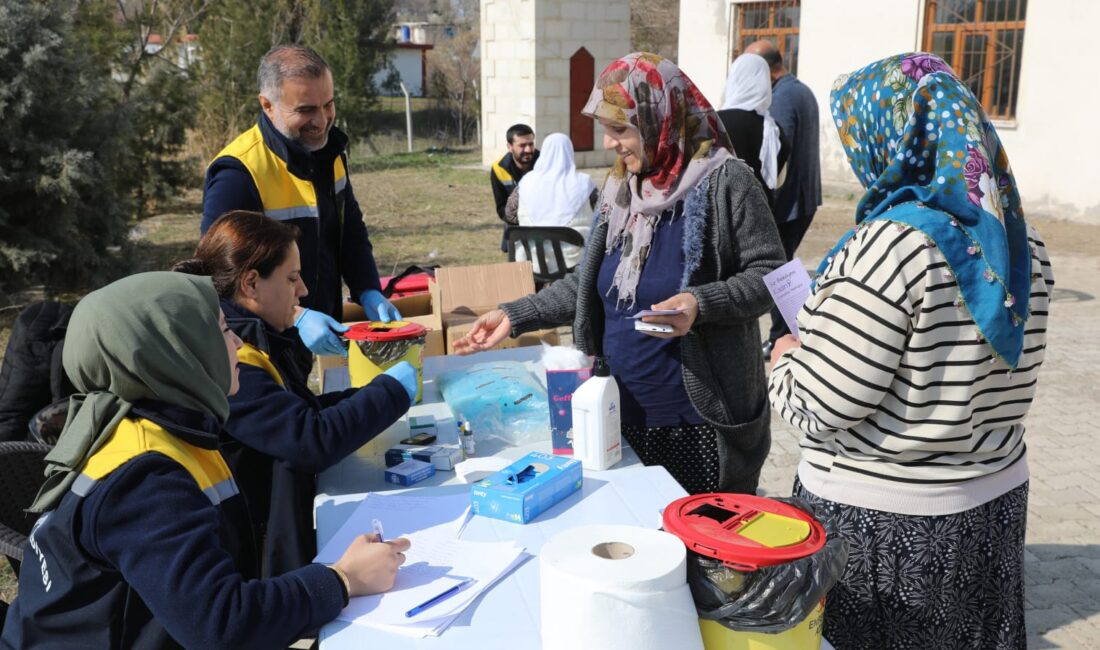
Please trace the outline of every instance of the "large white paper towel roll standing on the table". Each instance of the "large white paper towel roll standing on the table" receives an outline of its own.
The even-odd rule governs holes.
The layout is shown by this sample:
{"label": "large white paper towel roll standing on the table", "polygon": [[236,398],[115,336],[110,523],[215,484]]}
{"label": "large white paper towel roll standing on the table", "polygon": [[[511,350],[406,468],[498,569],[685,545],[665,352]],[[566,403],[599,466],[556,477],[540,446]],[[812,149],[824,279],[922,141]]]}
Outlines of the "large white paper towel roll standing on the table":
{"label": "large white paper towel roll standing on the table", "polygon": [[582,526],[539,552],[543,650],[702,650],[676,537]]}

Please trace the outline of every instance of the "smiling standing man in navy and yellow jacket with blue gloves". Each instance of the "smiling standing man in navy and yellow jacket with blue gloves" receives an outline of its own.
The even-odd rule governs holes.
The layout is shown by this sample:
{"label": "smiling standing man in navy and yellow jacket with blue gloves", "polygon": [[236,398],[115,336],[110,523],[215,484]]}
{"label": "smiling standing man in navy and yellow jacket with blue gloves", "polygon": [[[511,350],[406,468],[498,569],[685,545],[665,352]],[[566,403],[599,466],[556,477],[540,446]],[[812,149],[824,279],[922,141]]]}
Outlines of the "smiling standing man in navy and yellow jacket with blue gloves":
{"label": "smiling standing man in navy and yellow jacket with blue gloves", "polygon": [[[295,327],[308,373],[317,354],[346,354],[339,333],[341,279],[370,320],[400,318],[383,297],[363,213],[348,174],[348,136],[334,128],[332,73],[309,47],[279,45],[260,62],[261,113],[255,125],[218,154],[207,169],[202,223],[232,210],[252,210],[298,228],[301,299]],[[306,350],[308,348],[308,351]]]}

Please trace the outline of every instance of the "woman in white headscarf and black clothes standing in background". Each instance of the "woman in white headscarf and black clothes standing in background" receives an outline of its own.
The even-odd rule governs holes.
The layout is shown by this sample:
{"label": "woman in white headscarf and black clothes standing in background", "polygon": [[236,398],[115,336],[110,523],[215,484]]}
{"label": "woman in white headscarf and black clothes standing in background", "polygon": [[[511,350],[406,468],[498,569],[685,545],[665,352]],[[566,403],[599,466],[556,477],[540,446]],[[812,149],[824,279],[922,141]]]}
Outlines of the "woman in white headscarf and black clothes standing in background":
{"label": "woman in white headscarf and black clothes standing in background", "polygon": [[771,107],[771,74],[768,62],[757,54],[734,59],[726,75],[726,92],[718,119],[726,128],[734,151],[745,161],[768,196],[774,201],[780,170],[790,146],[783,131],[768,113]]}

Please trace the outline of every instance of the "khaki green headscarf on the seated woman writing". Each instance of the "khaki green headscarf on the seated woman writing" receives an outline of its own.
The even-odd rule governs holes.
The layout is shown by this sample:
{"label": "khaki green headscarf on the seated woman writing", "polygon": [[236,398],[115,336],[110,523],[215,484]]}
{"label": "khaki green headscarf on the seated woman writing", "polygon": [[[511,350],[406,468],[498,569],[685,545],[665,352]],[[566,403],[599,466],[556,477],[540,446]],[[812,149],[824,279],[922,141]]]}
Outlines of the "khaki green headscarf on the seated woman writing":
{"label": "khaki green headscarf on the seated woman writing", "polygon": [[57,505],[85,462],[110,438],[133,403],[156,399],[224,422],[229,356],[209,277],[142,273],[88,294],[65,335],[63,363],[77,389],[46,456],[46,482],[31,506]]}

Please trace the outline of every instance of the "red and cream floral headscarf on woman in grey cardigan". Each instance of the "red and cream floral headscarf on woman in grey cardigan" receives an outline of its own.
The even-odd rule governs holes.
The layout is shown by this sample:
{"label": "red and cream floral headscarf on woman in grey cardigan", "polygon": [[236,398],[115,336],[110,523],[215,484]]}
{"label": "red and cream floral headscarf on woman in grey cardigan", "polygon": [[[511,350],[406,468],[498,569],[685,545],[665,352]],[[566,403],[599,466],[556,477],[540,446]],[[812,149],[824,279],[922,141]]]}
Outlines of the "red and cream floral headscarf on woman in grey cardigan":
{"label": "red and cream floral headscarf on woman in grey cardigan", "polygon": [[581,113],[641,135],[642,173],[630,174],[617,159],[600,197],[608,222],[606,251],[623,250],[612,286],[620,304],[634,305],[661,214],[732,158],[734,147],[698,88],[656,54],[636,52],[607,66]]}

